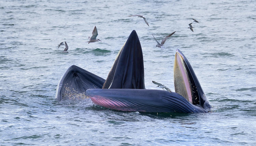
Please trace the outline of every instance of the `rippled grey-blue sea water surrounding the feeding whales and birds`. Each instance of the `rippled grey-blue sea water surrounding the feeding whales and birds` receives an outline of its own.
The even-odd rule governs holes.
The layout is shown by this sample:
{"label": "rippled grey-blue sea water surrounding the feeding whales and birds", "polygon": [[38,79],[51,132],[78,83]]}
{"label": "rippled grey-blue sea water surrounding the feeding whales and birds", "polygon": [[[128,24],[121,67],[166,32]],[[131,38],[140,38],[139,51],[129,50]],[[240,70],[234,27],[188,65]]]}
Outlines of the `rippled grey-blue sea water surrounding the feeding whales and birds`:
{"label": "rippled grey-blue sea water surrounding the feeding whales and birds", "polygon": [[[256,2],[0,1],[0,145],[256,145]],[[140,14],[147,18],[127,17]],[[195,23],[191,18],[197,19]],[[193,22],[194,33],[187,27]],[[102,42],[88,44],[94,26]],[[120,112],[90,99],[57,102],[76,65],[106,78],[132,30],[145,86],[174,91],[180,49],[213,106],[209,113]],[[164,46],[157,40],[176,31]],[[67,41],[69,53],[57,49]],[[160,90],[160,89],[159,89]]]}

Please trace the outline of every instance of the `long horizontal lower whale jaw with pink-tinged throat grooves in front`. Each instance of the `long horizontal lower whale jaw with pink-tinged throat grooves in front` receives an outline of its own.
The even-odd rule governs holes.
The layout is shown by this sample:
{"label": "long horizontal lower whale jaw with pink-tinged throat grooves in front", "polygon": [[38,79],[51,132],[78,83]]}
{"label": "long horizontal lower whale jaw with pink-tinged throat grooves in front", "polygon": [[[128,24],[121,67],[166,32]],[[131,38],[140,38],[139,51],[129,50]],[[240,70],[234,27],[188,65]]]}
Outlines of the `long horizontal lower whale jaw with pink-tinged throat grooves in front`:
{"label": "long horizontal lower whale jaw with pink-tinged throat grooves in front", "polygon": [[120,111],[199,113],[207,110],[189,103],[175,92],[148,89],[88,89],[97,105]]}

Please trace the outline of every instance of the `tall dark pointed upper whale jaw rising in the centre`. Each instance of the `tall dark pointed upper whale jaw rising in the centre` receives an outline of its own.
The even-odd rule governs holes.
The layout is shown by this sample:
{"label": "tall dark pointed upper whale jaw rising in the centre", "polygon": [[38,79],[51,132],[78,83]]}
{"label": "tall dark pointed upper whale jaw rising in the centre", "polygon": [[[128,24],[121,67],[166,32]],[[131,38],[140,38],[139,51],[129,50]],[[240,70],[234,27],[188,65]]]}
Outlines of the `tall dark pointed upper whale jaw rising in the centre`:
{"label": "tall dark pointed upper whale jaw rising in the centre", "polygon": [[142,48],[135,30],[119,51],[103,89],[145,89]]}

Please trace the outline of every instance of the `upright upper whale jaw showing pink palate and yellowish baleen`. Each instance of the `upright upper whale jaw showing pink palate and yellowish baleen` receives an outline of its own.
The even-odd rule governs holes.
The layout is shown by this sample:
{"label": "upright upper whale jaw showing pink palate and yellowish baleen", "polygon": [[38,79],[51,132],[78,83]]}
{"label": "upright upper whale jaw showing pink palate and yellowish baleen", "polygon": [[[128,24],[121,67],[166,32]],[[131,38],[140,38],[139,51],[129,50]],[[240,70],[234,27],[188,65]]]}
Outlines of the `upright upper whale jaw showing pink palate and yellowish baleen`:
{"label": "upright upper whale jaw showing pink palate and yellowish baleen", "polygon": [[177,49],[174,60],[175,92],[182,95],[191,104],[210,108],[197,76],[183,53]]}

